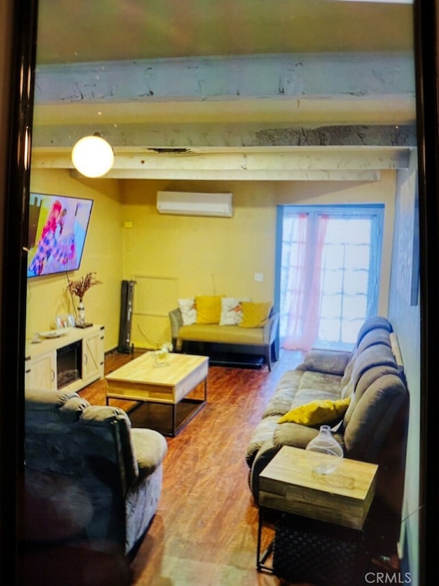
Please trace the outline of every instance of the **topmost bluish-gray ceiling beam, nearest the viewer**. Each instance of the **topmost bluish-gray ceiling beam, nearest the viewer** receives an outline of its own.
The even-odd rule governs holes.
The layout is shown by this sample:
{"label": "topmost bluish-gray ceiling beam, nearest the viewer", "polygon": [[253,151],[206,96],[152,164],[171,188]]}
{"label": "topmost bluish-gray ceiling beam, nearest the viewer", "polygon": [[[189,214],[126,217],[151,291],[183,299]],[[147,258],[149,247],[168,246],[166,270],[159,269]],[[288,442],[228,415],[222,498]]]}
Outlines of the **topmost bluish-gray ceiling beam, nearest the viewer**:
{"label": "topmost bluish-gray ceiling beam, nearest the viewer", "polygon": [[40,66],[37,105],[413,95],[412,54],[324,53]]}

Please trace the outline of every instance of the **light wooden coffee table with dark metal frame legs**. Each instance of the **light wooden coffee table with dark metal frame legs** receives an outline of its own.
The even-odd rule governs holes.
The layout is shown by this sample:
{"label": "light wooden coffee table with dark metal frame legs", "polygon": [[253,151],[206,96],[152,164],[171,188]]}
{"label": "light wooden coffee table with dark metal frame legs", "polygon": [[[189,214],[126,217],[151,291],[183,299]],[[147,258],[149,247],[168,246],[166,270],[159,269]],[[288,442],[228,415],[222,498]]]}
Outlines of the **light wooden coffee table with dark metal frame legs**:
{"label": "light wooden coffee table with dark metal frame legs", "polygon": [[[145,352],[138,358],[124,364],[106,375],[106,404],[110,399],[169,405],[171,409],[170,430],[159,429],[164,435],[174,437],[207,401],[207,373],[209,358],[189,354],[169,353],[166,365],[156,366],[154,354]],[[187,395],[204,381],[204,396],[188,398]],[[180,409],[183,418],[178,417],[178,405],[191,405],[191,409]],[[137,407],[134,407],[136,409]],[[130,413],[134,409],[130,410]],[[154,424],[152,423],[152,427]],[[161,427],[161,426],[160,426]]]}

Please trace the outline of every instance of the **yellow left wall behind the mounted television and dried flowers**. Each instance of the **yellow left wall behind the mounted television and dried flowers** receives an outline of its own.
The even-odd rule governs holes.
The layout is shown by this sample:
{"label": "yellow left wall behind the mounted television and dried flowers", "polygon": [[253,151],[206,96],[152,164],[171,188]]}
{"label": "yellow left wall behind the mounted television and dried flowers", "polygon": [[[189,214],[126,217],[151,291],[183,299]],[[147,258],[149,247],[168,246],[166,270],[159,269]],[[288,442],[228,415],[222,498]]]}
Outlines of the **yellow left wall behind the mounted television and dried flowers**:
{"label": "yellow left wall behind the mounted television and dried flowers", "polygon": [[[78,279],[96,271],[102,285],[92,287],[84,297],[86,321],[104,324],[105,348],[115,348],[119,337],[122,274],[119,182],[82,181],[73,179],[67,170],[36,169],[32,170],[30,190],[93,199],[81,266],[69,273],[69,278]],[[74,313],[78,299],[74,298],[74,306],[66,287],[64,274],[27,280],[27,338],[54,327],[56,315]]]}

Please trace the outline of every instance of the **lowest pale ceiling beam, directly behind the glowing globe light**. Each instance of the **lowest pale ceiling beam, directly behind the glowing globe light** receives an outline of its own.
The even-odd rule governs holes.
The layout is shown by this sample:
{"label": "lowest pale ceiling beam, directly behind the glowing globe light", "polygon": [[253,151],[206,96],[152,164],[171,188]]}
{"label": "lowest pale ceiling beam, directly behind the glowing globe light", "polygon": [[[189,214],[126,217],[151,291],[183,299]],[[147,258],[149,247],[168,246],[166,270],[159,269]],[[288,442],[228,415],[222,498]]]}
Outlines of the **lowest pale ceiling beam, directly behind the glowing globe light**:
{"label": "lowest pale ceiling beam, directly behind the glowing globe light", "polygon": [[[166,149],[119,148],[107,178],[239,179],[270,181],[377,181],[381,170],[407,168],[411,148],[248,148],[200,149],[169,153]],[[32,168],[74,170],[68,149],[36,149]]]}

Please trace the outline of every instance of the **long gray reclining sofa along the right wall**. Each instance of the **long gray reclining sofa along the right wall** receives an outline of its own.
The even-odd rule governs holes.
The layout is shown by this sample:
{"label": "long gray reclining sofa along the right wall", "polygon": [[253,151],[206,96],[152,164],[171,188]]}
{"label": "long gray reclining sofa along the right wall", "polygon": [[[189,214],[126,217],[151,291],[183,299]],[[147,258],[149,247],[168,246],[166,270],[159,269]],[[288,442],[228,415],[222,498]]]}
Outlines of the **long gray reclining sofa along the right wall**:
{"label": "long gray reclining sofa along the right wall", "polygon": [[284,445],[305,449],[320,428],[279,423],[279,418],[293,407],[316,399],[351,396],[342,420],[331,422],[333,434],[346,458],[379,464],[377,493],[399,510],[408,392],[402,365],[392,352],[394,341],[388,320],[372,317],[361,327],[352,352],[311,350],[297,368],[283,374],[246,451],[256,502],[259,473],[274,454]]}

